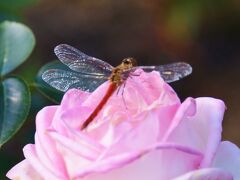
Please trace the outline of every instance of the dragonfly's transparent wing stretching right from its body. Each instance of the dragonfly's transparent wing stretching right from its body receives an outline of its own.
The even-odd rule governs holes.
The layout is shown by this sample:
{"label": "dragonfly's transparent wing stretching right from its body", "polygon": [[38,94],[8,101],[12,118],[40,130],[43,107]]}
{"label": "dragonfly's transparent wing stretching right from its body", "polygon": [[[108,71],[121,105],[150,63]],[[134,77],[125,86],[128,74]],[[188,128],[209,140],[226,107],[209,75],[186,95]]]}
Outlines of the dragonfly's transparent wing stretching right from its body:
{"label": "dragonfly's transparent wing stretching right from its body", "polygon": [[131,75],[131,72],[134,72],[136,69],[143,69],[146,72],[158,71],[164,81],[171,83],[174,81],[178,81],[189,74],[192,73],[191,65],[184,62],[177,62],[171,64],[164,64],[160,66],[137,66],[133,67],[128,71],[123,73],[123,76],[127,77]]}

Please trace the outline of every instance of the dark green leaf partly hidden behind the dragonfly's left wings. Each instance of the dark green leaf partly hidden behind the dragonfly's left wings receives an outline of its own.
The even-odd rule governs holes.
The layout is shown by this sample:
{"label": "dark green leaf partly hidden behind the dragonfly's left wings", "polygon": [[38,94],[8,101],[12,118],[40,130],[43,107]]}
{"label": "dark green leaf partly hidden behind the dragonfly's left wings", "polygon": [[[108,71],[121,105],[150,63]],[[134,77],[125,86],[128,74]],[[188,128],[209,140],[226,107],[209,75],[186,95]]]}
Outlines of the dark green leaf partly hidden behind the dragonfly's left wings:
{"label": "dark green leaf partly hidden behind the dragonfly's left wings", "polygon": [[53,61],[44,65],[38,72],[36,78],[36,87],[37,89],[48,99],[55,103],[59,103],[62,100],[63,92],[51,87],[42,79],[42,74],[48,69],[63,69],[68,70],[66,65],[63,65],[60,61]]}

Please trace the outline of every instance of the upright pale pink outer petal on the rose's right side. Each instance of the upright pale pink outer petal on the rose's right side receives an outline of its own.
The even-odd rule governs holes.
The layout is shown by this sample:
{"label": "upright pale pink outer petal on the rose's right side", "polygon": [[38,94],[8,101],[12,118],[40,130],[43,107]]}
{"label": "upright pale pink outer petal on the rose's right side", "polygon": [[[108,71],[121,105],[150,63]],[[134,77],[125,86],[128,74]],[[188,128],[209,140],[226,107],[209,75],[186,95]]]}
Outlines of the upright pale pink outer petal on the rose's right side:
{"label": "upright pale pink outer petal on the rose's right side", "polygon": [[[225,105],[214,98],[197,98],[196,105],[194,104],[194,99],[188,98],[184,101],[174,118],[177,123],[170,129],[166,139],[168,142],[180,143],[203,152],[205,156],[201,167],[208,167],[221,140]],[[196,114],[186,114],[194,112],[194,106]]]}

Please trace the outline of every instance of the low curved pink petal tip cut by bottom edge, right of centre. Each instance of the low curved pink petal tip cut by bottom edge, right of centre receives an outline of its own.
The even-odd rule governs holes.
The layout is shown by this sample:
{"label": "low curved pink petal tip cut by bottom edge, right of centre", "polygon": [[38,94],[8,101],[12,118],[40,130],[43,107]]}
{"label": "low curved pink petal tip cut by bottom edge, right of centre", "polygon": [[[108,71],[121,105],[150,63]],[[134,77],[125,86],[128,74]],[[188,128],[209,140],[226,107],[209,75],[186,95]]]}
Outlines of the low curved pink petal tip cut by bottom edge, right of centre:
{"label": "low curved pink petal tip cut by bottom edge, right of centre", "polygon": [[174,178],[174,180],[233,180],[233,177],[227,171],[217,168],[207,168],[191,171],[182,176]]}

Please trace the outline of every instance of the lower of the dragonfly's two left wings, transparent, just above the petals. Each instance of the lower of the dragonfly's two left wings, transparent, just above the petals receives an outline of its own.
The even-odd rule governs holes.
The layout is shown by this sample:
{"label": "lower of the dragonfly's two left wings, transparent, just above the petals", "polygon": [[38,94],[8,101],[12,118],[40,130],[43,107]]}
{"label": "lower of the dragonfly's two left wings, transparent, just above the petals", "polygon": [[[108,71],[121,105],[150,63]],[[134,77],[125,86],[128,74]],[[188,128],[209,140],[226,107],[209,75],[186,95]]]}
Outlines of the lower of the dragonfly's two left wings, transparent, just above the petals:
{"label": "lower of the dragonfly's two left wings, transparent, just above the petals", "polygon": [[72,88],[92,92],[107,78],[106,76],[92,76],[62,69],[49,69],[42,74],[42,79],[46,83],[63,92]]}

